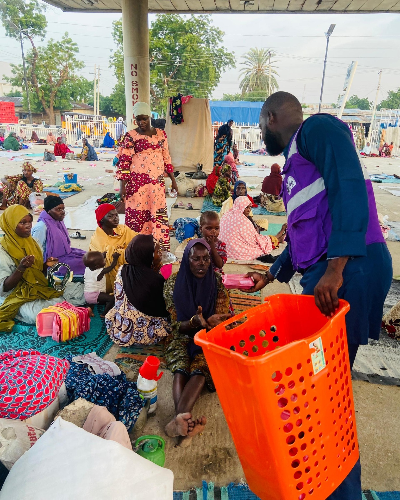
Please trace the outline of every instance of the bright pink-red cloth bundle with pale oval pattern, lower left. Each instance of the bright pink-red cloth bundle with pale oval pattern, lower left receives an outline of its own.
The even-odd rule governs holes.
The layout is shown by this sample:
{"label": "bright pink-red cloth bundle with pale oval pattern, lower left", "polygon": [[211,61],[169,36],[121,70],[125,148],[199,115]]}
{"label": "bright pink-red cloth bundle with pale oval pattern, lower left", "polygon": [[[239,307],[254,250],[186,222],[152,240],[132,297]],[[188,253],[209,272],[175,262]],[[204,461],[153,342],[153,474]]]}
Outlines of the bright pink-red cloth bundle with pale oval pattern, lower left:
{"label": "bright pink-red cloth bundle with pale oval pattern, lower left", "polygon": [[57,397],[69,362],[37,350],[0,354],[0,417],[25,420]]}

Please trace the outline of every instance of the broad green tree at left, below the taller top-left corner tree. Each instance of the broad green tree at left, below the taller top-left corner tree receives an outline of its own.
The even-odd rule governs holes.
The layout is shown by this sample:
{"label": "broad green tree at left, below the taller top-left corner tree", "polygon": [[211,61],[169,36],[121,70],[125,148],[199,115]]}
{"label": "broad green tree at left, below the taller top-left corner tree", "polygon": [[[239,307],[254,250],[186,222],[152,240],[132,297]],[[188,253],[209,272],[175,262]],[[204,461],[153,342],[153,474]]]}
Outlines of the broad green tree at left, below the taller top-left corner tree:
{"label": "broad green tree at left, below the taller top-left corner tree", "polygon": [[[84,63],[76,58],[77,44],[65,33],[60,41],[50,38],[47,45],[26,54],[26,79],[32,111],[44,110],[49,123],[55,123],[55,109],[69,109],[70,102],[86,100],[92,83],[76,71]],[[12,85],[24,84],[22,64],[11,64],[13,76],[4,76]],[[25,98],[24,98],[25,100]],[[26,102],[24,102],[26,105]]]}

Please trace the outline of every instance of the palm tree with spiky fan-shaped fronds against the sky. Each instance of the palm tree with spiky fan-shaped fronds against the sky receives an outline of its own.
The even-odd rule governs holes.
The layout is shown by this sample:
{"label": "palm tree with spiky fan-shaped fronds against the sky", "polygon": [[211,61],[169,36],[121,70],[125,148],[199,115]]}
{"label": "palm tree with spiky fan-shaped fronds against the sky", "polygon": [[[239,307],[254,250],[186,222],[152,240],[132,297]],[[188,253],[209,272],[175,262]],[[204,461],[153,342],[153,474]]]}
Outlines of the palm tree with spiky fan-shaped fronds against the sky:
{"label": "palm tree with spiky fan-shaped fronds against the sky", "polygon": [[[270,55],[268,55],[270,53]],[[248,92],[266,91],[268,94],[269,86],[269,61],[274,57],[276,52],[269,48],[250,48],[248,52],[243,54],[244,62],[240,69],[239,76],[243,76],[240,81],[239,88],[242,95]],[[272,63],[280,62],[271,60]],[[279,76],[276,71],[276,66],[271,64],[271,87],[270,92],[274,92],[279,88],[274,75]]]}

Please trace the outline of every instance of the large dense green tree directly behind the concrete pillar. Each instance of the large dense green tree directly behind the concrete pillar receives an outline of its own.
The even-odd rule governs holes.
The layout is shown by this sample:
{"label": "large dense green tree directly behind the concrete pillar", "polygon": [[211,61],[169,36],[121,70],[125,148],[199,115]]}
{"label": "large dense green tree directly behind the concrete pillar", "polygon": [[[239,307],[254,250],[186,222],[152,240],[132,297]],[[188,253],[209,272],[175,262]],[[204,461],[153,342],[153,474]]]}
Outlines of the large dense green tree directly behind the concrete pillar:
{"label": "large dense green tree directly behind the concrete pillar", "polygon": [[[167,98],[177,92],[209,97],[221,73],[234,67],[234,57],[223,47],[223,31],[212,25],[210,15],[158,14],[149,32],[150,86],[153,108],[166,108]],[[125,100],[121,20],[113,22],[117,50],[110,58],[118,84],[111,100],[121,112]],[[124,108],[125,106],[123,106]],[[125,110],[124,110],[125,113]]]}

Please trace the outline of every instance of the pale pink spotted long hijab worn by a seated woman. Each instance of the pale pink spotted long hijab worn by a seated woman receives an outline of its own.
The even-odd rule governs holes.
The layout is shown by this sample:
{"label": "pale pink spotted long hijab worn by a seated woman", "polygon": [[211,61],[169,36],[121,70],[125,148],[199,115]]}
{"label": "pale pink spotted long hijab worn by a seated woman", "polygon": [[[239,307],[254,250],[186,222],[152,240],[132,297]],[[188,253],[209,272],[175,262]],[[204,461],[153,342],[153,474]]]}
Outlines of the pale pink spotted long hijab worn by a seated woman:
{"label": "pale pink spotted long hijab worn by a seated woman", "polygon": [[219,236],[226,244],[228,258],[251,260],[272,250],[271,238],[258,234],[243,214],[249,204],[251,202],[247,196],[237,196],[232,208],[222,215]]}

